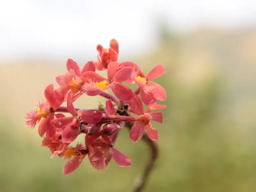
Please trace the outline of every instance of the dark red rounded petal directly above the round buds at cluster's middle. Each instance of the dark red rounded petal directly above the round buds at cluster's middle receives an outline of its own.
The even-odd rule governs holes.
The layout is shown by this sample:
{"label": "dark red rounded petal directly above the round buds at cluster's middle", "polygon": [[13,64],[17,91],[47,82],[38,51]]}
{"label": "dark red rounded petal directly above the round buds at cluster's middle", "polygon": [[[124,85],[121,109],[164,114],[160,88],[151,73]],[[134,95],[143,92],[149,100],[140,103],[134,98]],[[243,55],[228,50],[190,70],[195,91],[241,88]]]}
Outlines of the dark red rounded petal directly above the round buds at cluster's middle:
{"label": "dark red rounded petal directly above the round buds at cluster's middle", "polygon": [[84,110],[80,112],[82,114],[82,120],[88,124],[96,124],[102,119],[102,112],[95,109]]}

